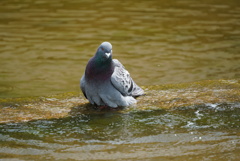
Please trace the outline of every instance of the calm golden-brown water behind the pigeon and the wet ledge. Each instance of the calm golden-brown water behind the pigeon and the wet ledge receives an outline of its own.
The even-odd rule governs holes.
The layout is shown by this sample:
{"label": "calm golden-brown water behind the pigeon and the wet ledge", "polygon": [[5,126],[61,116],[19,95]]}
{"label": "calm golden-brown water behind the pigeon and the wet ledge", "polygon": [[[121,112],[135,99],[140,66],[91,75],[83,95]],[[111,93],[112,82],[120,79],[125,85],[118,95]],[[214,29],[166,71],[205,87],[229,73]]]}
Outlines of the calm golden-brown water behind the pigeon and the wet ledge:
{"label": "calm golden-brown water behind the pigeon and the wet ledge", "polygon": [[139,85],[240,77],[239,0],[1,0],[0,97],[79,91],[103,41]]}

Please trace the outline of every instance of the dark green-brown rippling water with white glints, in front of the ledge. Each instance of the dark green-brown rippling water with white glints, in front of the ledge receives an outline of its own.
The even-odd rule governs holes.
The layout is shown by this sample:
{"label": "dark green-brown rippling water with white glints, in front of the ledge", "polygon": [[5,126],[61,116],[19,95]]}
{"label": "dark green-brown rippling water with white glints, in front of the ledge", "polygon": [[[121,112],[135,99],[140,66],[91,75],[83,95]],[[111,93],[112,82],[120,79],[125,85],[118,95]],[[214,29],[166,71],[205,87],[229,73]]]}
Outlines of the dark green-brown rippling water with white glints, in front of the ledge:
{"label": "dark green-brown rippling water with white glints, in front of the ledge", "polygon": [[239,109],[209,104],[0,124],[0,154],[37,160],[237,160]]}

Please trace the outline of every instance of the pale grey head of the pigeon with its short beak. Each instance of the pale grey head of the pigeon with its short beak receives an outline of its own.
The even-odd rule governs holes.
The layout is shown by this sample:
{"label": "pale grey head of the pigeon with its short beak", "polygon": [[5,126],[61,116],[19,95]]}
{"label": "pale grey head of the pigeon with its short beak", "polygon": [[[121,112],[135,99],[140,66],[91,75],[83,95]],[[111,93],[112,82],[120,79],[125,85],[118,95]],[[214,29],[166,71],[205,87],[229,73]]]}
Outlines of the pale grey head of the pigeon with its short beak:
{"label": "pale grey head of the pigeon with its short beak", "polygon": [[97,58],[102,61],[112,59],[112,45],[109,42],[103,42],[97,49]]}

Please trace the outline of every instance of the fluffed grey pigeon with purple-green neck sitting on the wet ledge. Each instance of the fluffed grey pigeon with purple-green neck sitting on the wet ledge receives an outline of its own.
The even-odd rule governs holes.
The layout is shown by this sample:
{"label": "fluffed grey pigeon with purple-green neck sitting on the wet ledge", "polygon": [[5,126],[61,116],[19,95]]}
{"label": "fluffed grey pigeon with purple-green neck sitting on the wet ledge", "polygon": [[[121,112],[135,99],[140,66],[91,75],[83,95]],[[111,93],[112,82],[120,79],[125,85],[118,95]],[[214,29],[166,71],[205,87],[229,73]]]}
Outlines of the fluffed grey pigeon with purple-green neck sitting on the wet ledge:
{"label": "fluffed grey pigeon with purple-green neck sitting on the wet ledge", "polygon": [[89,102],[98,107],[126,107],[136,103],[144,91],[117,60],[112,59],[112,45],[103,42],[80,80],[80,88]]}

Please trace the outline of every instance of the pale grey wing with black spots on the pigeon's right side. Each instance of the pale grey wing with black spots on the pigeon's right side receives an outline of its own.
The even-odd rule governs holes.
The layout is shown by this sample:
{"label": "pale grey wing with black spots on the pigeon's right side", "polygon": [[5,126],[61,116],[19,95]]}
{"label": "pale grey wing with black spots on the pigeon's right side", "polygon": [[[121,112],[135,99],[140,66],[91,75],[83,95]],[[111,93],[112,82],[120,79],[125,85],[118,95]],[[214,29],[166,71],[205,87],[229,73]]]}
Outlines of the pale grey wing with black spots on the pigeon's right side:
{"label": "pale grey wing with black spots on the pigeon's right side", "polygon": [[117,59],[113,59],[113,63],[115,66],[111,76],[113,86],[124,96],[137,97],[143,95],[143,89],[133,81],[124,66]]}

